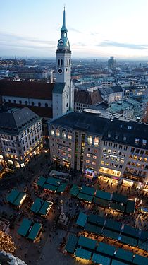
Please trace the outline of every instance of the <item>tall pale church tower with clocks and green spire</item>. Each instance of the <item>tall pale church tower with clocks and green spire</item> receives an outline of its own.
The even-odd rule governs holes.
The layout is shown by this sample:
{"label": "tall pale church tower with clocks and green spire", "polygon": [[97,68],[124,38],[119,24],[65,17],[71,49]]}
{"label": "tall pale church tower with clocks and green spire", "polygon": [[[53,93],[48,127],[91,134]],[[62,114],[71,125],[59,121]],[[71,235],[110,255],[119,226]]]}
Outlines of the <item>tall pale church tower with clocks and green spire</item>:
{"label": "tall pale church tower with clocks and green spire", "polygon": [[56,49],[56,83],[52,94],[53,118],[73,111],[74,90],[71,81],[71,51],[67,37],[66,11],[63,10],[61,38]]}

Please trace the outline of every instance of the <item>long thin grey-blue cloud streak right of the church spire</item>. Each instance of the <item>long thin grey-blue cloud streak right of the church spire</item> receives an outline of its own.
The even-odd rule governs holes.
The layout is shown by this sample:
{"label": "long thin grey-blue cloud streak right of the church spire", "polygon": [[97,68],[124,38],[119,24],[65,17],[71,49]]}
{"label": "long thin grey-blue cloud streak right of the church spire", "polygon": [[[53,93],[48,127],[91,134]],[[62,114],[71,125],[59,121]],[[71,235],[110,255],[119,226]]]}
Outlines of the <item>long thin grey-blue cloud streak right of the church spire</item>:
{"label": "long thin grey-blue cloud streak right of the church spire", "polygon": [[104,40],[103,42],[99,43],[99,47],[121,47],[121,48],[128,48],[128,49],[148,49],[148,45],[145,44],[132,44],[132,43],[121,43],[121,42],[113,42],[111,40]]}

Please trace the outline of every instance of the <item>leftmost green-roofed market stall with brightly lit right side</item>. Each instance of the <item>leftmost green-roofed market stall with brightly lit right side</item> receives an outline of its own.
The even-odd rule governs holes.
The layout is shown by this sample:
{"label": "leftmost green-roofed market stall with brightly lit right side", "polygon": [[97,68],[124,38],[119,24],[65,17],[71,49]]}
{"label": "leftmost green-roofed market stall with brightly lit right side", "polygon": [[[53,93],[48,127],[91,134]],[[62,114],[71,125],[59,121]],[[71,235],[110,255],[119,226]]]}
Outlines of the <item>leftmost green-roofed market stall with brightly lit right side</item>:
{"label": "leftmost green-roofed market stall with brightly lit right side", "polygon": [[15,206],[20,206],[26,198],[25,192],[19,192],[13,189],[7,196],[7,201]]}

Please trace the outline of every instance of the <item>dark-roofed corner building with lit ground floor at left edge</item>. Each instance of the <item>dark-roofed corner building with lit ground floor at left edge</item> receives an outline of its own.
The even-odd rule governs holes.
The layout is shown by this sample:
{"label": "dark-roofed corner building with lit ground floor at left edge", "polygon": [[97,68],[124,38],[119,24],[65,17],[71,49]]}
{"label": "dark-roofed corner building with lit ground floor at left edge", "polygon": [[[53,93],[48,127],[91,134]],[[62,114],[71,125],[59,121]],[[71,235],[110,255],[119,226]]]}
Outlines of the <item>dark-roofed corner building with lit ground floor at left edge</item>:
{"label": "dark-roofed corner building with lit ground floor at left edge", "polygon": [[0,113],[0,163],[23,167],[43,147],[42,118],[29,108]]}

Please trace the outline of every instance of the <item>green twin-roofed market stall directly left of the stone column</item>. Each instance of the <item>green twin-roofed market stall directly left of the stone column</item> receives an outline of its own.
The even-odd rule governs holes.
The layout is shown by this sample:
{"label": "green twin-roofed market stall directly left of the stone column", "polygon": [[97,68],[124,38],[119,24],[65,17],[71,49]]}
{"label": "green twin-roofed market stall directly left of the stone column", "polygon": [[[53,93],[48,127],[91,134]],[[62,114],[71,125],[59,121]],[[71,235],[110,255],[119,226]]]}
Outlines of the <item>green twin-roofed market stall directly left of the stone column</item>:
{"label": "green twin-roofed market stall directly left of the stone column", "polygon": [[30,210],[33,211],[34,213],[39,213],[42,214],[43,216],[46,216],[52,204],[53,202],[51,201],[44,201],[43,199],[37,198],[32,204]]}

